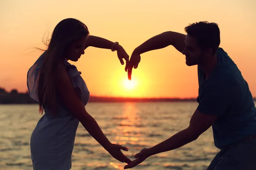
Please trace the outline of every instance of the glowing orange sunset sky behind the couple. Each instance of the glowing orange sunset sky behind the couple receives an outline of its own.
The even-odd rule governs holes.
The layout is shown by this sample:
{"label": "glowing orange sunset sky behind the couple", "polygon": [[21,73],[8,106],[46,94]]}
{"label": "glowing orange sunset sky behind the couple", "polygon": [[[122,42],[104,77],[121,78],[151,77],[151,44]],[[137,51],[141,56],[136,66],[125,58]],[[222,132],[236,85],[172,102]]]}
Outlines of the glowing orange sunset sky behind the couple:
{"label": "glowing orange sunset sky behind the couple", "polygon": [[[131,55],[134,48],[164,31],[185,34],[189,23],[218,23],[221,47],[230,55],[256,96],[256,1],[255,0],[1,0],[0,87],[26,91],[26,73],[44,48],[44,33],[67,17],[84,22],[91,35],[118,41]],[[91,95],[132,97],[196,97],[196,66],[188,67],[175,48],[141,55],[133,71],[134,88],[124,85],[127,74],[116,52],[87,48],[75,64]]]}

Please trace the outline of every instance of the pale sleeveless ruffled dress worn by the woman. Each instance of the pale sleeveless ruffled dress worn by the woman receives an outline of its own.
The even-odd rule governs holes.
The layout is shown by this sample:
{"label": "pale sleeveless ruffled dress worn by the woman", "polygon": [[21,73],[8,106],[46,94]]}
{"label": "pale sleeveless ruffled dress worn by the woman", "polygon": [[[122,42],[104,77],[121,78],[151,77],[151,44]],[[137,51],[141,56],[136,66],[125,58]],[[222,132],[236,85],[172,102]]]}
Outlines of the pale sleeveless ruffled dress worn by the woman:
{"label": "pale sleeveless ruffled dress worn by the woman", "polygon": [[[44,54],[38,58],[27,74],[29,95],[36,101],[37,84],[35,82],[38,80],[43,57]],[[81,72],[67,61],[65,61],[65,66],[76,92],[86,105],[90,93],[80,76]],[[67,110],[58,98],[57,100],[58,117],[53,117],[51,112],[44,107],[45,113],[31,135],[30,150],[34,170],[70,170],[71,168],[71,155],[79,120]]]}

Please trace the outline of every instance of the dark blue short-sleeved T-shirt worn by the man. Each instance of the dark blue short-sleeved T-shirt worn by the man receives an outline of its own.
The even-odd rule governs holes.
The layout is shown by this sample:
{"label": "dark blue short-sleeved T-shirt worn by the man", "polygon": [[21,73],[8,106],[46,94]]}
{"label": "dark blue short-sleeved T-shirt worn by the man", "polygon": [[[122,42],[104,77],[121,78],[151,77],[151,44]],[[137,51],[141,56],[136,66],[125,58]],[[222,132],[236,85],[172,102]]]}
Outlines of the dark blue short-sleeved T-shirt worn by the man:
{"label": "dark blue short-sleeved T-shirt worn by the man", "polygon": [[[256,135],[256,108],[247,82],[239,68],[222,49],[218,62],[207,80],[198,66],[198,111],[218,116],[212,125],[214,144],[223,148]],[[204,120],[202,120],[204,121]]]}

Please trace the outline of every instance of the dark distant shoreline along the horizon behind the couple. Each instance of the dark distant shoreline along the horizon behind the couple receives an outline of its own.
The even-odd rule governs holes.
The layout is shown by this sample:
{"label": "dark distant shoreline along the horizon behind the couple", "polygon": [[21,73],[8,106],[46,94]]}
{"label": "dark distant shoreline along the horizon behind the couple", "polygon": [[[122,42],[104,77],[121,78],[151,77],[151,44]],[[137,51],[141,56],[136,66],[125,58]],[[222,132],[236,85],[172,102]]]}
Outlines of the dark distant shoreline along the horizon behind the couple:
{"label": "dark distant shoreline along the horizon behind the couple", "polygon": [[[256,98],[253,98],[256,101]],[[125,97],[102,97],[90,96],[90,103],[95,102],[196,102],[196,98],[125,98]],[[37,104],[30,98],[29,93],[18,93],[17,90],[11,92],[0,88],[0,105],[6,104]]]}

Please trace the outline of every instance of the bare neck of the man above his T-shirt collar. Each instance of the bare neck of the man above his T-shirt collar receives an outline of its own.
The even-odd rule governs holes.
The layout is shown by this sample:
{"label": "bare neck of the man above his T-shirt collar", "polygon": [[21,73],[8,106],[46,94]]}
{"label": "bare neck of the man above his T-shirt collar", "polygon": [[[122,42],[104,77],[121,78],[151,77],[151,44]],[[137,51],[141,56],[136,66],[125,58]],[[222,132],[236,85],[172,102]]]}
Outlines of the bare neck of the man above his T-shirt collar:
{"label": "bare neck of the man above his T-shirt collar", "polygon": [[214,70],[215,66],[217,65],[218,59],[217,55],[215,54],[213,57],[210,57],[206,61],[202,62],[199,67],[204,71],[205,78],[207,79],[212,71]]}

